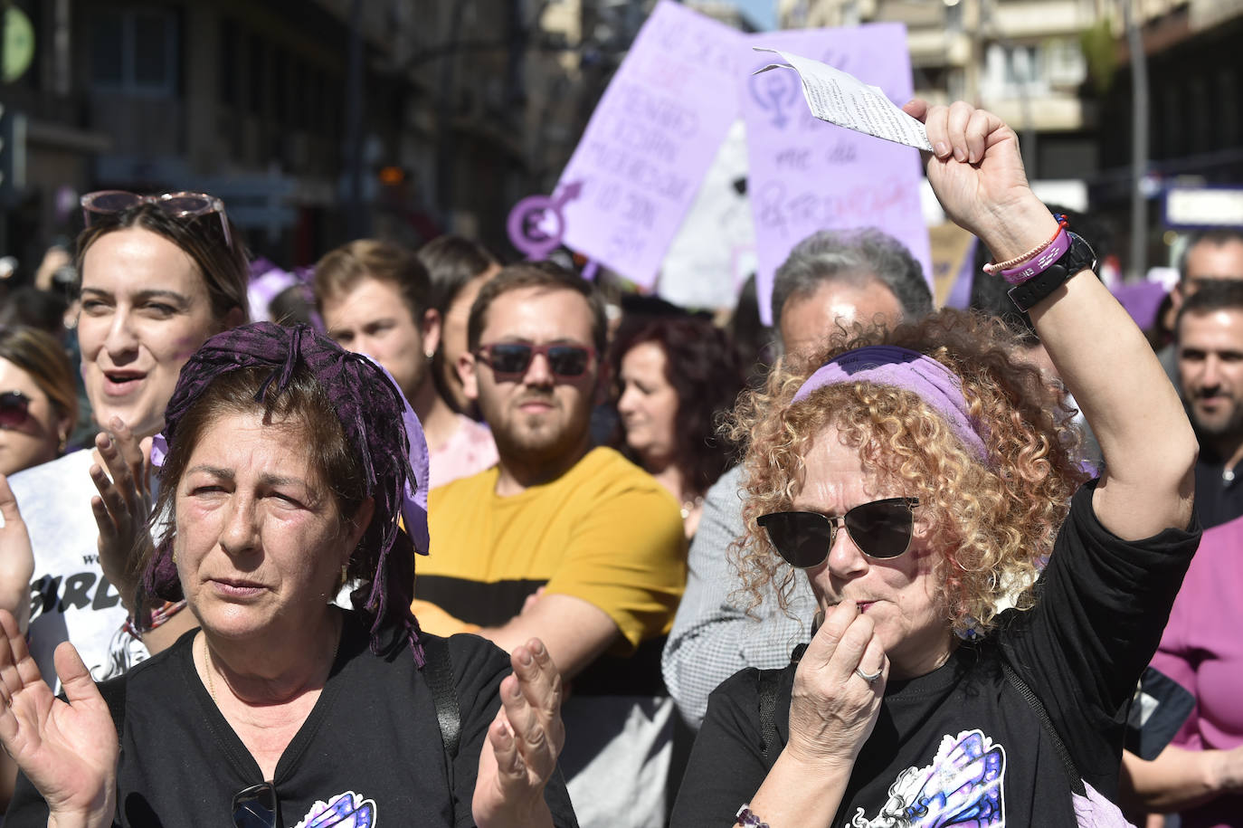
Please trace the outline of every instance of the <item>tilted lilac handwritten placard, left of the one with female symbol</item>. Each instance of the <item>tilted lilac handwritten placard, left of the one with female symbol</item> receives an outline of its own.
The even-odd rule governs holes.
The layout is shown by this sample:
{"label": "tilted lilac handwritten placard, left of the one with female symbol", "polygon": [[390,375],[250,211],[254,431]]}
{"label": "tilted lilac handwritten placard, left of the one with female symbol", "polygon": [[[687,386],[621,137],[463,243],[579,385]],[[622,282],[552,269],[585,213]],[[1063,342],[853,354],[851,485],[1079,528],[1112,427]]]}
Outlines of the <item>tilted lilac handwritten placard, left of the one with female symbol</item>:
{"label": "tilted lilac handwritten placard, left of the one with female symbol", "polygon": [[644,287],[737,114],[743,36],[661,0],[561,174],[566,245]]}

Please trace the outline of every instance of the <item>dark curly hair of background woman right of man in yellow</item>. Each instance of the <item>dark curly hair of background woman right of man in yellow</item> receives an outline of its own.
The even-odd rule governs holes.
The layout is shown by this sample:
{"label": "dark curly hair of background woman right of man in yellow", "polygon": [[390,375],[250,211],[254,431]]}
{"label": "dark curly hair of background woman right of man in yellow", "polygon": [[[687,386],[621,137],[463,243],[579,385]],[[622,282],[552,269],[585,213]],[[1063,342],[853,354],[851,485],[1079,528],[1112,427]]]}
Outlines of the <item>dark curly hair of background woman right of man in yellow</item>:
{"label": "dark curly hair of background woman right of man in yellow", "polygon": [[[622,359],[635,346],[651,342],[665,353],[665,379],[677,394],[671,462],[681,469],[686,485],[702,496],[737,460],[733,439],[717,434],[717,425],[746,383],[746,370],[730,334],[705,318],[656,317],[622,323],[609,351],[614,400],[620,397]],[[613,445],[639,462],[625,448],[619,425]],[[640,464],[641,465],[641,464]]]}

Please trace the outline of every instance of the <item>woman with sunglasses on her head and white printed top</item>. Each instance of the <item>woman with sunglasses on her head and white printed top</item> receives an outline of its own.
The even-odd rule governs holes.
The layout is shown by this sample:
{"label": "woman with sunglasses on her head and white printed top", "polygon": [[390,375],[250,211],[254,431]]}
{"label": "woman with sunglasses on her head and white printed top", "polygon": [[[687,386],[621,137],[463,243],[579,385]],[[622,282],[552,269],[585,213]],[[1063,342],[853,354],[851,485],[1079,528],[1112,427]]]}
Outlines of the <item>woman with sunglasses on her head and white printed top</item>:
{"label": "woman with sunglasses on her head and white printed top", "polygon": [[131,553],[154,496],[139,440],[163,428],[190,354],[246,321],[249,267],[224,204],[210,195],[109,190],[82,196],[82,208],[77,336],[102,431],[93,450],[14,475],[11,491],[0,482],[0,552],[12,559],[32,550],[30,646],[45,675],[55,675],[56,645],[71,640],[102,680],[189,623],[152,630],[145,644],[122,629],[137,587]]}

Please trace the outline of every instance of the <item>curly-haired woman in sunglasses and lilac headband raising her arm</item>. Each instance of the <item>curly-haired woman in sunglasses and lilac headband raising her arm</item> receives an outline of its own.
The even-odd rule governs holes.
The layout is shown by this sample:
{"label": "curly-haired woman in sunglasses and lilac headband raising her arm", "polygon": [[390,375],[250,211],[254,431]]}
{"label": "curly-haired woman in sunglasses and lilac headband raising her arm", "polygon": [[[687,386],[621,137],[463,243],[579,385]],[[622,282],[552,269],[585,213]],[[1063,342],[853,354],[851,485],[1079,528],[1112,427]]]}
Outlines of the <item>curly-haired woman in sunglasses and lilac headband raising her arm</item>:
{"label": "curly-haired woman in sunglasses and lilac headband raising her arm", "polygon": [[[996,321],[838,331],[745,398],[737,548],[758,603],[819,604],[783,670],[709,701],[672,824],[1122,824],[1122,734],[1198,542],[1196,441],[1086,242],[1033,195],[1014,132],[906,106],[927,177],[1030,310],[1100,439],[1085,480],[1064,389]],[[1001,261],[1004,260],[1004,261]]]}

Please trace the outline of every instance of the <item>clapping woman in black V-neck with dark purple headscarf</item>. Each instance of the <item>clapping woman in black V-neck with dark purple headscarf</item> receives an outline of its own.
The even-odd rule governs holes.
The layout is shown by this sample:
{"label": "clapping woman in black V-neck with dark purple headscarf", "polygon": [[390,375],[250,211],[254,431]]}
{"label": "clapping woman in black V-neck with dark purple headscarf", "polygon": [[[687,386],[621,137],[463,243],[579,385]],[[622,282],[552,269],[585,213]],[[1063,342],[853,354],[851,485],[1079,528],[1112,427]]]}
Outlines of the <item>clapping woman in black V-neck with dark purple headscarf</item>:
{"label": "clapping woman in black V-neck with dark purple headscarf", "polygon": [[576,824],[543,645],[410,614],[426,446],[382,368],[244,326],[190,358],[164,420],[138,603],[184,598],[201,629],[98,686],[63,644],[61,701],[0,612],[6,824]]}

